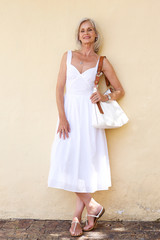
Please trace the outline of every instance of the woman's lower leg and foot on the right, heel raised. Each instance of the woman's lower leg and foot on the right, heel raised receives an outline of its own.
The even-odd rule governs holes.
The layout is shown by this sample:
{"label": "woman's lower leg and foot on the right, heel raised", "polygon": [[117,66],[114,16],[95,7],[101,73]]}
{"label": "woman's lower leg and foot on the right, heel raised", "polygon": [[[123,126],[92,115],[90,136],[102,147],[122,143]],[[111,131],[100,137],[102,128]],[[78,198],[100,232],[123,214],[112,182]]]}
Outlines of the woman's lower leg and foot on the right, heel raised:
{"label": "woman's lower leg and foot on the right, heel raised", "polygon": [[[97,215],[102,206],[97,203],[89,193],[76,193],[77,196],[81,199],[81,201],[85,204],[87,213],[90,215]],[[88,230],[93,227],[94,225],[94,217],[88,217],[88,225],[84,227],[84,230]]]}

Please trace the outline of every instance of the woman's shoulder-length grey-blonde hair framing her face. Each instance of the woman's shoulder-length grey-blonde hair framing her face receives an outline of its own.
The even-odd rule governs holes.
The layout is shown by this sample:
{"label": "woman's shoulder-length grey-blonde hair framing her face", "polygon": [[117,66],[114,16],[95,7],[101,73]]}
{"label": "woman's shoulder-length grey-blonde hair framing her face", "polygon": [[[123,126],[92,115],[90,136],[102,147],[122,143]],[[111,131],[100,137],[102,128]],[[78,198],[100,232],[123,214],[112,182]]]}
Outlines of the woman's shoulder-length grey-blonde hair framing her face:
{"label": "woman's shoulder-length grey-blonde hair framing her face", "polygon": [[94,29],[94,31],[95,31],[95,33],[96,33],[96,35],[97,35],[97,37],[95,38],[95,43],[94,43],[94,51],[95,51],[95,53],[98,53],[99,48],[100,48],[100,34],[99,34],[98,30],[97,30],[95,22],[92,19],[90,19],[90,18],[83,18],[79,22],[77,30],[76,30],[76,41],[77,41],[78,45],[80,45],[80,46],[82,45],[81,41],[79,40],[79,30],[80,30],[80,27],[81,27],[82,23],[84,23],[84,22],[90,22],[92,27],[93,27],[93,29]]}

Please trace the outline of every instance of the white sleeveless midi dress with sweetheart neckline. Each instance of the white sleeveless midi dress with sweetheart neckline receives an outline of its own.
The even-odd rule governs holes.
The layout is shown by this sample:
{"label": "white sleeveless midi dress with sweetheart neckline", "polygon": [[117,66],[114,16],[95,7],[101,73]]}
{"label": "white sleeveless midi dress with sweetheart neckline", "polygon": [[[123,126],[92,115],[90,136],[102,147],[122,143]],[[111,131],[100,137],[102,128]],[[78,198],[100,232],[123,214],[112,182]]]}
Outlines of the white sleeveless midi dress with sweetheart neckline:
{"label": "white sleeveless midi dress with sweetheart neckline", "polygon": [[92,127],[91,119],[90,96],[99,60],[80,73],[71,59],[72,51],[68,51],[64,107],[71,131],[65,140],[55,135],[48,187],[81,193],[107,190],[111,175],[105,131]]}

